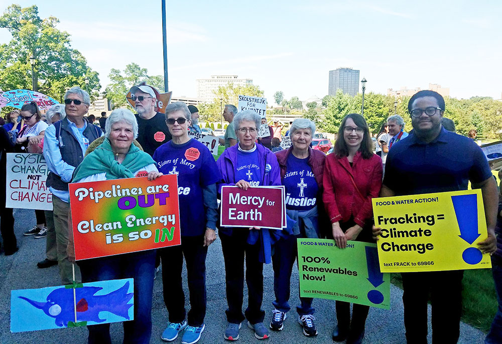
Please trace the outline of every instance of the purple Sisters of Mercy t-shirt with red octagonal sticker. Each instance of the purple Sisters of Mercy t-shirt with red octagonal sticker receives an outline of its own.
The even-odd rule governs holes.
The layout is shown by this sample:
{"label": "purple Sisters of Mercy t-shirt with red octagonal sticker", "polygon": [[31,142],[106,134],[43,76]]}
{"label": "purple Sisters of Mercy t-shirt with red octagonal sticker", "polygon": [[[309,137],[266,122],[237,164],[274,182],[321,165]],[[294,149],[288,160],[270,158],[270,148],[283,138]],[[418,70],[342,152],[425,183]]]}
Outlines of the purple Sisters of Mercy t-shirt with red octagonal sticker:
{"label": "purple Sisters of Mercy t-shirt with red octagonal sticker", "polygon": [[155,150],[159,172],[178,175],[181,235],[194,237],[206,231],[203,189],[221,179],[216,161],[197,140],[176,145],[169,141]]}

